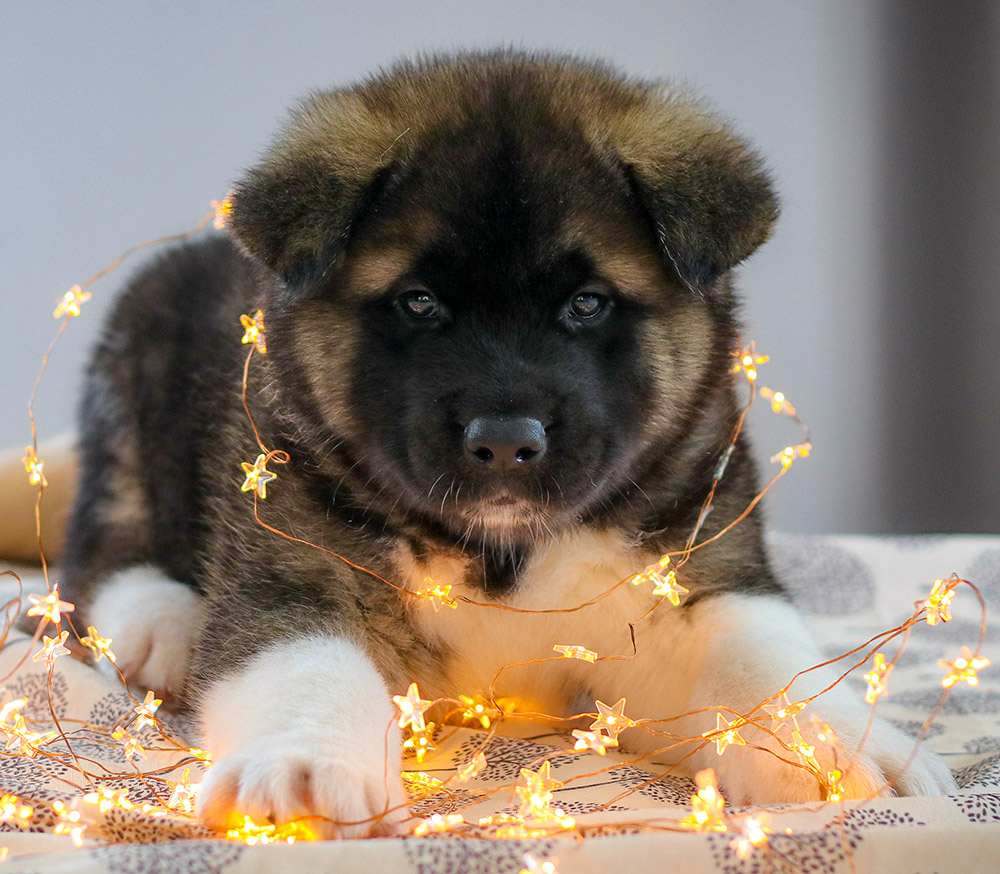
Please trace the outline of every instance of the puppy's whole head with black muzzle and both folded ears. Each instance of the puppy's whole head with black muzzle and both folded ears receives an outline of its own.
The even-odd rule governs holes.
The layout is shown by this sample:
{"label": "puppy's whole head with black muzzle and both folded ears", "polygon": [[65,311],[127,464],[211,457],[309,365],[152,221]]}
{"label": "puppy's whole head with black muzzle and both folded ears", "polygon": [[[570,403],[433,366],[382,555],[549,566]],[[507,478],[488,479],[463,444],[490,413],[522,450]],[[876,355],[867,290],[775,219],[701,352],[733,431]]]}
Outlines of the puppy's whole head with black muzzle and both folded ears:
{"label": "puppy's whole head with black muzzle and both folded ears", "polygon": [[527,538],[688,429],[731,345],[720,278],[774,212],[759,166],[700,113],[603,69],[497,56],[297,118],[234,226],[283,275],[269,345],[372,502]]}

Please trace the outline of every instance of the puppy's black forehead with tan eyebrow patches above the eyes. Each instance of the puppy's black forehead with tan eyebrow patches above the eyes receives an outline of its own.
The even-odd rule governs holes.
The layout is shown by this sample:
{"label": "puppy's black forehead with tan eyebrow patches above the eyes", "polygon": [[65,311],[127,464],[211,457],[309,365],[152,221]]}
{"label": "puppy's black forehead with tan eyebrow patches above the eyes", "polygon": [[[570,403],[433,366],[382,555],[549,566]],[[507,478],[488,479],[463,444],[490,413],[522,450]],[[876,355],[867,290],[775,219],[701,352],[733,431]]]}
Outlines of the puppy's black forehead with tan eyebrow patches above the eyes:
{"label": "puppy's black forehead with tan eyebrow patches above the eyes", "polygon": [[530,277],[586,264],[620,293],[649,301],[666,273],[652,228],[616,168],[579,143],[538,132],[480,131],[434,143],[359,233],[346,285],[362,297],[437,260],[469,279]]}

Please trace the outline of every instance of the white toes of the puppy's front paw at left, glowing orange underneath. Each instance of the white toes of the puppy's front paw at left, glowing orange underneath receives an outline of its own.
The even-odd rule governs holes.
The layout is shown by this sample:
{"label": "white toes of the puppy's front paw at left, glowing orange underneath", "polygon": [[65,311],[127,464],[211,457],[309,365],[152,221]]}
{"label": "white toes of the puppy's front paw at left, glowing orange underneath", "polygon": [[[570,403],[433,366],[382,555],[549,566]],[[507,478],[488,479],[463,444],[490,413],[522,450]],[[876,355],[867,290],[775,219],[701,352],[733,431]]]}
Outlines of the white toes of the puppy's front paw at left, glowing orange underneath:
{"label": "white toes of the puppy's front paw at left, glowing orange underneath", "polygon": [[[391,757],[390,757],[391,759]],[[216,828],[242,823],[305,824],[325,838],[397,834],[409,819],[399,768],[385,756],[290,730],[222,759],[198,793],[198,815]]]}

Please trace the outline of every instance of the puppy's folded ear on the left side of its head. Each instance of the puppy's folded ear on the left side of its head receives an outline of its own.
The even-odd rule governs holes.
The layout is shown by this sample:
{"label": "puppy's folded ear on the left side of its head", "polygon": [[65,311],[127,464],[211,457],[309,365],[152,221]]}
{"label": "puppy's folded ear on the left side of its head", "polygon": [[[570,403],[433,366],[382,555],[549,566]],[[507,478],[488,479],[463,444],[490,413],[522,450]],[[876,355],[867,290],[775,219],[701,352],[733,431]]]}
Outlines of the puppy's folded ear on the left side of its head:
{"label": "puppy's folded ear on the left side of its head", "polygon": [[237,242],[295,294],[308,294],[336,270],[352,228],[390,176],[386,151],[361,147],[384,142],[384,132],[365,130],[364,122],[376,125],[358,115],[348,92],[314,95],[230,197]]}

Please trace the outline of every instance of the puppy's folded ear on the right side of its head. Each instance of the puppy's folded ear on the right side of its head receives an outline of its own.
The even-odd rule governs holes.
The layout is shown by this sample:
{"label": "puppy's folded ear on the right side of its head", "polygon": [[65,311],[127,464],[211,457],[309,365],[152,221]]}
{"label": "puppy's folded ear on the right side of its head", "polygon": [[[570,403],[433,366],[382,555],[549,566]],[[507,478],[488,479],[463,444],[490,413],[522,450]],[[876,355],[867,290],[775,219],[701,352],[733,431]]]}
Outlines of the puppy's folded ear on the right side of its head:
{"label": "puppy's folded ear on the right side of its head", "polygon": [[761,158],[698,103],[664,88],[616,125],[618,152],[664,255],[710,285],[771,235],[778,200]]}

